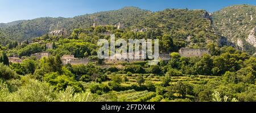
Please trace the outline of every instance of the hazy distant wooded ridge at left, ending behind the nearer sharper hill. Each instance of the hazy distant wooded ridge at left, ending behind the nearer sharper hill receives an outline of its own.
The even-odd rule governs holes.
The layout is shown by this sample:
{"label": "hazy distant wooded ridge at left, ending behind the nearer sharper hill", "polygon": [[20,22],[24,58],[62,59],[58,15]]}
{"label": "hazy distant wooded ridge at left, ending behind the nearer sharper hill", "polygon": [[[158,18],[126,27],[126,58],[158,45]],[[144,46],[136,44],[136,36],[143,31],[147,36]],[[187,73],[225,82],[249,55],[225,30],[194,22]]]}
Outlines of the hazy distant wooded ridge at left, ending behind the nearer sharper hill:
{"label": "hazy distant wooded ridge at left, ending behind the nearer sharper hill", "polygon": [[126,26],[130,26],[137,24],[147,14],[151,14],[151,12],[136,7],[125,7],[120,10],[97,12],[74,18],[38,18],[2,28],[1,31],[5,32],[6,38],[23,41],[60,28],[65,28],[68,33],[71,33],[75,28],[92,26],[94,20],[99,24],[117,24],[118,21],[121,21]]}

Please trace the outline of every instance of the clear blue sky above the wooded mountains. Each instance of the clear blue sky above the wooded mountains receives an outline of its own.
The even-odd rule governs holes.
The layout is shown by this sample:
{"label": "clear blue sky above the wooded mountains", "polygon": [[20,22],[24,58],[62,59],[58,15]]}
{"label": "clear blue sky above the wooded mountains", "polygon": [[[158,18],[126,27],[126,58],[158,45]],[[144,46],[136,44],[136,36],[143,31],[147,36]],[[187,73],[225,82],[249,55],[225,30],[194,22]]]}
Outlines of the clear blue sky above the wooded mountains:
{"label": "clear blue sky above the wooded mountains", "polygon": [[256,5],[256,0],[0,0],[0,23],[46,16],[71,18],[125,6],[151,11],[189,8],[214,12],[238,4]]}

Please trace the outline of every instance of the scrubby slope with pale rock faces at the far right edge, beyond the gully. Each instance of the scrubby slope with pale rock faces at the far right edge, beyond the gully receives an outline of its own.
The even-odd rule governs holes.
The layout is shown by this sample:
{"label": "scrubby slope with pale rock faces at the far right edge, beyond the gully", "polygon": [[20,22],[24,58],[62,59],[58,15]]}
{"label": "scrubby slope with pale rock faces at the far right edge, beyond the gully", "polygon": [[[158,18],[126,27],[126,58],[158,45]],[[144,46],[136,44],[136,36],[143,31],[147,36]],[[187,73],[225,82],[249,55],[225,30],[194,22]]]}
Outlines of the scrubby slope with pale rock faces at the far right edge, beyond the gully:
{"label": "scrubby slope with pale rock faces at the far right edge, beyond the gully", "polygon": [[222,36],[242,50],[256,52],[256,6],[230,6],[214,12],[212,17]]}

